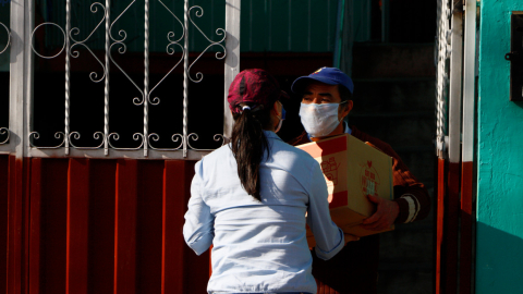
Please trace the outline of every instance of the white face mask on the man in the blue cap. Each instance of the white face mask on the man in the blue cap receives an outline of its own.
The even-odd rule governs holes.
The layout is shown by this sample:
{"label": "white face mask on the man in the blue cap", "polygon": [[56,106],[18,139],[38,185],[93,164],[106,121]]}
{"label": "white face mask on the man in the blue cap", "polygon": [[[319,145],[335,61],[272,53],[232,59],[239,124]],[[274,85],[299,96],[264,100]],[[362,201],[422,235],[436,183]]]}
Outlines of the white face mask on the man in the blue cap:
{"label": "white face mask on the man in the blue cap", "polygon": [[300,118],[308,135],[312,137],[324,137],[332,133],[341,122],[338,120],[339,107],[340,103],[302,103]]}

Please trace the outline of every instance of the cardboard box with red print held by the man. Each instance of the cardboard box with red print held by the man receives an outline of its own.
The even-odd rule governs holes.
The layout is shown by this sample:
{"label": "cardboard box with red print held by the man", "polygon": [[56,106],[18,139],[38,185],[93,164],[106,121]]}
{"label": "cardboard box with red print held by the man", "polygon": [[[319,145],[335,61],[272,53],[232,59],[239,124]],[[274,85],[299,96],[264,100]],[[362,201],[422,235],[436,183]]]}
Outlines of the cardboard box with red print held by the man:
{"label": "cardboard box with red print held by the man", "polygon": [[[349,134],[296,147],[320,163],[329,189],[330,216],[343,232],[366,236],[393,230],[369,231],[358,225],[376,211],[367,194],[393,199],[391,157]],[[308,228],[307,241],[314,247]]]}

